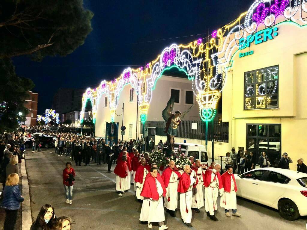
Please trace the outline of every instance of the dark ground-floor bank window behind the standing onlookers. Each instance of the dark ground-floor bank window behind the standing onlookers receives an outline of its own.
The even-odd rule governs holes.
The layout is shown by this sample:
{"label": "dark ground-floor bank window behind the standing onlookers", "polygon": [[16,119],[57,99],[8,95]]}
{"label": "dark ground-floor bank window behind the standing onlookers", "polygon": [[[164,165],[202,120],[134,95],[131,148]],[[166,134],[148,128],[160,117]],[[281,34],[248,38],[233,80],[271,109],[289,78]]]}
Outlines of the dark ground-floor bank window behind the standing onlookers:
{"label": "dark ground-floor bank window behind the standing onlookers", "polygon": [[278,165],[278,161],[282,156],[281,130],[280,124],[246,125],[247,152],[254,153],[257,163],[262,152],[265,152],[271,165]]}

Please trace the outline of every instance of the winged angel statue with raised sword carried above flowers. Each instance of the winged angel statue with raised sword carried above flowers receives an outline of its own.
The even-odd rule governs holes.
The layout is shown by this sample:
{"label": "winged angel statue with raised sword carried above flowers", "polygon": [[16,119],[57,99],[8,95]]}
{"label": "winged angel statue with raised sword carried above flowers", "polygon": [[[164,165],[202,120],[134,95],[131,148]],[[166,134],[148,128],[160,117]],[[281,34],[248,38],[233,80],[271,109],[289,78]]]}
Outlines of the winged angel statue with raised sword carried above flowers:
{"label": "winged angel statue with raised sword carried above flowers", "polygon": [[175,98],[170,98],[167,102],[165,109],[162,111],[162,117],[165,123],[164,132],[167,133],[167,148],[171,151],[174,150],[175,136],[178,133],[178,125],[181,123],[185,115],[191,110],[192,106],[188,108],[184,113],[181,113],[179,110],[172,113],[172,107],[174,106]]}

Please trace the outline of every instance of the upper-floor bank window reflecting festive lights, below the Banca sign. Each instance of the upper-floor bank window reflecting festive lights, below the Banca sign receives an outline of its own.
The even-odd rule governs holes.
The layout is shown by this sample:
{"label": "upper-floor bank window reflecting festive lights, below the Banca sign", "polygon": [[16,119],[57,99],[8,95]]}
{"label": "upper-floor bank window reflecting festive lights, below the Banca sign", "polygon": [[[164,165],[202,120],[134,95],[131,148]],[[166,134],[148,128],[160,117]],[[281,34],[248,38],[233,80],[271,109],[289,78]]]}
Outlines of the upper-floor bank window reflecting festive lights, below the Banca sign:
{"label": "upper-floor bank window reflecting festive lights, below the Banca sign", "polygon": [[244,109],[278,108],[278,66],[244,73]]}

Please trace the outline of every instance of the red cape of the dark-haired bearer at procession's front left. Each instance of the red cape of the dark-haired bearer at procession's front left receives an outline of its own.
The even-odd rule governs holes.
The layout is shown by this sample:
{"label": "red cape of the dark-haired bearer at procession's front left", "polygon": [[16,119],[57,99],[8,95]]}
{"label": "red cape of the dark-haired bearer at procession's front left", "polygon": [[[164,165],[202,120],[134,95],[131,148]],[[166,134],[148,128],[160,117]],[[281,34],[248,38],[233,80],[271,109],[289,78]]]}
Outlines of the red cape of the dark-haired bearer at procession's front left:
{"label": "red cape of the dark-haired bearer at procession's front left", "polygon": [[[165,185],[160,175],[157,176],[157,181],[161,184],[162,189],[163,189],[163,196],[165,196],[166,189],[165,189]],[[150,175],[149,177],[145,179],[143,189],[141,192],[141,196],[152,198],[155,201],[159,200],[157,185],[156,185],[155,178],[153,176]]]}

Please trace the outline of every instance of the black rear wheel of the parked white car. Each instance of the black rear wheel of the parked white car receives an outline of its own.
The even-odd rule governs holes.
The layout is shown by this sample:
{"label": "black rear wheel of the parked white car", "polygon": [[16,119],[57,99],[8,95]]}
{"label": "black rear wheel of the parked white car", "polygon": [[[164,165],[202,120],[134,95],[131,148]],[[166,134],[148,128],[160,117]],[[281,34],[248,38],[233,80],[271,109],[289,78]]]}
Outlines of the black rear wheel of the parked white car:
{"label": "black rear wheel of the parked white car", "polygon": [[296,204],[289,199],[278,201],[278,211],[286,220],[297,220],[300,217]]}

